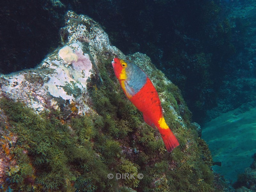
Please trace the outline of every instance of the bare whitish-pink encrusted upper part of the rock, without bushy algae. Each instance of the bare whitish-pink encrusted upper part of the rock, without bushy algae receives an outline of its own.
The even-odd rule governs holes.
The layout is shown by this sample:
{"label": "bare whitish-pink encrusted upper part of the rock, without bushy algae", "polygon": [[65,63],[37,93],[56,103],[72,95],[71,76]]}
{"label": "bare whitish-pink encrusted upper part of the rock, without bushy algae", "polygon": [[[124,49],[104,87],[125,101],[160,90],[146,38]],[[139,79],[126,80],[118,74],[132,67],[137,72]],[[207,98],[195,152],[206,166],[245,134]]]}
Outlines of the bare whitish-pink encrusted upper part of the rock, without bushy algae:
{"label": "bare whitish-pink encrusted upper part of the rock, without bushy algae", "polygon": [[104,50],[122,54],[110,46],[108,35],[89,17],[68,12],[66,23],[61,31],[68,33],[68,42],[63,47],[36,68],[0,76],[2,97],[22,101],[36,111],[54,108],[68,115],[70,105],[76,106],[78,114],[90,110],[85,104],[86,81],[97,73],[100,61],[96,55],[104,57]]}

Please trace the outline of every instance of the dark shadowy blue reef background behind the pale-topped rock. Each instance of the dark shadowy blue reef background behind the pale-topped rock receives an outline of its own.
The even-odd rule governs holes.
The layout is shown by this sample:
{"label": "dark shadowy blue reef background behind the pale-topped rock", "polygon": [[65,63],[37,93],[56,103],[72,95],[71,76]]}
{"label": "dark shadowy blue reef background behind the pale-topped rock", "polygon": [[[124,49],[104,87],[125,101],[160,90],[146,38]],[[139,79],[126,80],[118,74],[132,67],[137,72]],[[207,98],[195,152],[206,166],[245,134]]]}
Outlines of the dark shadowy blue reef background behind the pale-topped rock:
{"label": "dark shadowy blue reef background behind the pale-topped rock", "polygon": [[14,2],[0,7],[1,73],[33,68],[60,46],[65,12],[74,10],[104,26],[124,54],[146,53],[179,86],[198,123],[255,99],[253,0]]}

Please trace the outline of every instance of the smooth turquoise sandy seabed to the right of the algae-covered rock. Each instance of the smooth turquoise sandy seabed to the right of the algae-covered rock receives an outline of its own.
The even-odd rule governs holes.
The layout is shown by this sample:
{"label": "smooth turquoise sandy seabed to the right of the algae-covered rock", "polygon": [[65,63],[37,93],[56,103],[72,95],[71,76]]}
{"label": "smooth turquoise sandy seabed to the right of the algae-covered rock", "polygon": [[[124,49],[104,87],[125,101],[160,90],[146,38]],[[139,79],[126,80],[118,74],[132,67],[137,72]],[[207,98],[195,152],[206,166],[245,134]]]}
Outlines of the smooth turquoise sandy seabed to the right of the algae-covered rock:
{"label": "smooth turquoise sandy seabed to the right of the algae-covered rock", "polygon": [[216,117],[202,126],[202,138],[209,145],[213,161],[222,163],[212,169],[235,182],[256,153],[256,108],[242,113],[237,108]]}

